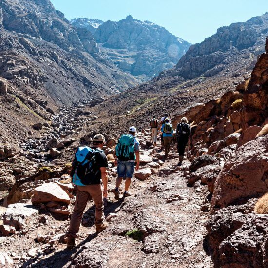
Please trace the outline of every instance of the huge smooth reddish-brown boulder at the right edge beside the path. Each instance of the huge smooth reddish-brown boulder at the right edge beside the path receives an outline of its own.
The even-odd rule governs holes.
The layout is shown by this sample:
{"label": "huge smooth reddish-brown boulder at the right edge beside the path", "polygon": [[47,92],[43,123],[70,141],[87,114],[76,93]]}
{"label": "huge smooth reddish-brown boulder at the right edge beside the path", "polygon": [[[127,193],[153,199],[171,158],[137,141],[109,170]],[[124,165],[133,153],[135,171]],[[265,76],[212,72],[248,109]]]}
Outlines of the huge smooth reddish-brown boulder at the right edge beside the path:
{"label": "huge smooth reddish-brown boulder at the right edge beside the path", "polygon": [[215,182],[212,211],[249,196],[267,192],[268,135],[242,145],[229,158]]}

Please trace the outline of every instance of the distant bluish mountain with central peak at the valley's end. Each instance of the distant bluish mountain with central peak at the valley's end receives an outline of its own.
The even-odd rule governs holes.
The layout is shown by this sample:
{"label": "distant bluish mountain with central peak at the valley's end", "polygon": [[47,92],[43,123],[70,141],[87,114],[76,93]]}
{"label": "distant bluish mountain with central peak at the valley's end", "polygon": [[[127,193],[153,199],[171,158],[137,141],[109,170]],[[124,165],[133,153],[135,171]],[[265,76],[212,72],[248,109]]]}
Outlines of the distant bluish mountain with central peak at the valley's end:
{"label": "distant bluish mountain with central peak at the valley's end", "polygon": [[[77,27],[77,22],[71,23]],[[94,32],[94,38],[100,50],[120,69],[140,80],[148,80],[172,68],[190,46],[165,28],[130,15],[118,22],[104,22]]]}

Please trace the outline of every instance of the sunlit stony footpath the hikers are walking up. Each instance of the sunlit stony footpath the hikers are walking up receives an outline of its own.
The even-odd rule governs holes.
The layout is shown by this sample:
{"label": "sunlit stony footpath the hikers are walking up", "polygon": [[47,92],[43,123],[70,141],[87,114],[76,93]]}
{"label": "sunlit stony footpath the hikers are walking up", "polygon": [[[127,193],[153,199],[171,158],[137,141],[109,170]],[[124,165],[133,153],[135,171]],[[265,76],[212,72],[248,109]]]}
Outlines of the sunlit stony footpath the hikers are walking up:
{"label": "sunlit stony footpath the hikers are walking up", "polygon": [[[169,170],[177,160],[166,161],[159,170]],[[188,165],[189,163],[187,163]],[[200,210],[206,187],[187,187],[182,170],[169,176],[154,175],[150,180],[133,180],[133,195],[116,201],[109,193],[105,214],[117,213],[107,230],[96,235],[92,222],[94,208],[90,201],[80,228],[77,246],[69,251],[58,244],[35,267],[213,267],[203,245],[207,214]],[[111,181],[114,185],[115,178]],[[57,222],[62,231],[68,224]],[[141,230],[143,241],[125,234]],[[144,238],[145,237],[145,238]]]}

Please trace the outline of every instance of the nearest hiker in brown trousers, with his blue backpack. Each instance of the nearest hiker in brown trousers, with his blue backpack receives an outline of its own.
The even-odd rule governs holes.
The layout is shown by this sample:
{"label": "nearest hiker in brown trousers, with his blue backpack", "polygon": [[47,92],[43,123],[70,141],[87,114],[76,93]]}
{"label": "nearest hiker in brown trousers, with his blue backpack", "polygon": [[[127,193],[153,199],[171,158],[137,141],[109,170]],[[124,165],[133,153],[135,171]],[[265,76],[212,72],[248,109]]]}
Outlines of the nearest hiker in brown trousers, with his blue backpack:
{"label": "nearest hiker in brown trousers, with his blue backpack", "polygon": [[[77,196],[70,227],[66,233],[68,236],[68,248],[75,246],[75,238],[79,231],[81,218],[88,199],[92,198],[95,204],[96,232],[101,232],[107,227],[103,213],[103,197],[107,197],[108,184],[108,174],[106,171],[108,161],[105,153],[101,150],[104,142],[104,136],[98,134],[94,136],[91,148],[84,146],[77,149],[71,171],[72,182],[77,185]],[[101,179],[103,191],[101,190]]]}

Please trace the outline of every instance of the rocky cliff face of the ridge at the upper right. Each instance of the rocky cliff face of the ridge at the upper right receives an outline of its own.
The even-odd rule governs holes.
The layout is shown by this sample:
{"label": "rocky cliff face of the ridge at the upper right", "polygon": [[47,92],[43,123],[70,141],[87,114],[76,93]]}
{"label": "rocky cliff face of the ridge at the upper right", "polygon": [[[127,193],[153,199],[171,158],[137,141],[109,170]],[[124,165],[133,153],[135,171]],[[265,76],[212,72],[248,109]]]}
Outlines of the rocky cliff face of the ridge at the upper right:
{"label": "rocky cliff face of the ridge at the upper right", "polygon": [[247,58],[250,65],[252,58],[263,52],[261,44],[267,34],[268,13],[246,22],[221,27],[216,34],[192,45],[180,59],[176,69],[182,77],[191,79],[226,71],[233,64],[234,57]]}

